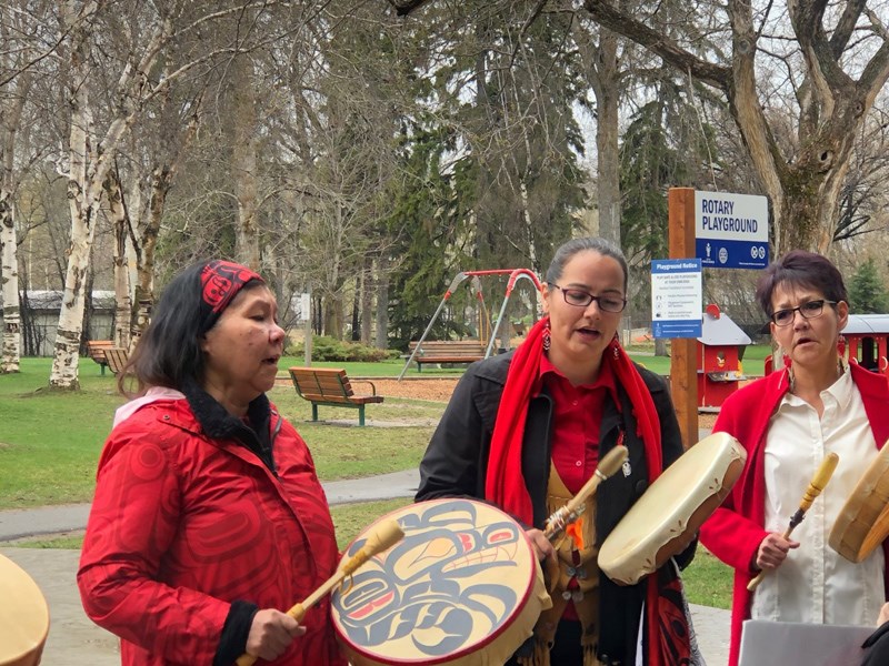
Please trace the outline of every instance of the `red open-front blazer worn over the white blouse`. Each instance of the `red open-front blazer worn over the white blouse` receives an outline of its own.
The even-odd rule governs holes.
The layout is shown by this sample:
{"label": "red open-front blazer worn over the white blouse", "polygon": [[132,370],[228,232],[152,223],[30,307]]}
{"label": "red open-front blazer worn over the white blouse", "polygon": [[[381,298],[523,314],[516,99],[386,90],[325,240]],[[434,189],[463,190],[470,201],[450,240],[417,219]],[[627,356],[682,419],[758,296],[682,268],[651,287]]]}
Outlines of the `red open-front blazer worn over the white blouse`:
{"label": "red open-front blazer worn over the white blouse", "polygon": [[[849,369],[852,381],[861,393],[877,448],[882,448],[883,443],[889,440],[889,382],[885,375],[869,372],[857,364],[851,364]],[[713,432],[729,433],[747,450],[747,463],[740,478],[722,506],[713,512],[700,531],[700,542],[707,549],[735,568],[729,666],[738,663],[741,624],[750,617],[752,595],[747,592],[747,584],[756,575],[750,571],[750,563],[768,534],[763,528],[766,432],[769,418],[788,389],[787,371],[773,372],[757,380],[726,401],[713,426]],[[883,553],[889,565],[889,541],[883,542]]]}

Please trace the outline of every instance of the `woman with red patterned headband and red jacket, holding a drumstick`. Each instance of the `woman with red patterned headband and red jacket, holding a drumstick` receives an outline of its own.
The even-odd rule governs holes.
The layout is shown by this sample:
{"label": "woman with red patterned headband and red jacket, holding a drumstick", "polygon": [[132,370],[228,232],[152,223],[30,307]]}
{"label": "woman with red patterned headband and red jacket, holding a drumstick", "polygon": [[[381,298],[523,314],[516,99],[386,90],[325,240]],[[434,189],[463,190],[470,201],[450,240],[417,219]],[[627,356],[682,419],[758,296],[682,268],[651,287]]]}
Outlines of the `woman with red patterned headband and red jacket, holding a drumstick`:
{"label": "woman with red patterned headband and red jacket, holding a drumstick", "polygon": [[[78,585],[128,666],[344,665],[326,601],[338,551],[309,450],[266,392],[284,331],[253,271],[201,263],[167,286],[118,379]],[[134,381],[130,395],[124,383]]]}

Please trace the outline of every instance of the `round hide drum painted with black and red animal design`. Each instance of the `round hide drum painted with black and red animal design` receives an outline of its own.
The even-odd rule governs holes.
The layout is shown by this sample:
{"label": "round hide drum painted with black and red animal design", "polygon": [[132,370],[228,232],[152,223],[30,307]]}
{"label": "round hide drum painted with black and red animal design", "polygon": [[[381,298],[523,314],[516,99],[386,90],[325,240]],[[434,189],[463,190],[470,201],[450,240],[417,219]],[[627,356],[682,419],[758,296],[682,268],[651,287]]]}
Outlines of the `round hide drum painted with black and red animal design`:
{"label": "round hide drum painted with black and red animal design", "polygon": [[333,625],[352,666],[509,659],[552,603],[521,525],[465,498],[421,502],[386,518],[399,523],[404,538],[332,596]]}

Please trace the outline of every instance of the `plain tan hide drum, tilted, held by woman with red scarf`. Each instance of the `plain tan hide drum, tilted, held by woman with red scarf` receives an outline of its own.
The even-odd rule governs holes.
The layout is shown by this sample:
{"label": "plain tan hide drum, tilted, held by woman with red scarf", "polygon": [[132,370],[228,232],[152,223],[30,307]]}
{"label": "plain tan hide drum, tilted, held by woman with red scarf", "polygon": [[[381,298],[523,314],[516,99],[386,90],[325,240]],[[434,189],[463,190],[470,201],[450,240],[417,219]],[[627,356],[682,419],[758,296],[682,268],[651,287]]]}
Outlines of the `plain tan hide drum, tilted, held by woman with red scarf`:
{"label": "plain tan hide drum, tilted, held by woman with red scarf", "polygon": [[726,433],[686,451],[649,486],[599,549],[599,568],[633,585],[678,554],[729,494],[747,452]]}

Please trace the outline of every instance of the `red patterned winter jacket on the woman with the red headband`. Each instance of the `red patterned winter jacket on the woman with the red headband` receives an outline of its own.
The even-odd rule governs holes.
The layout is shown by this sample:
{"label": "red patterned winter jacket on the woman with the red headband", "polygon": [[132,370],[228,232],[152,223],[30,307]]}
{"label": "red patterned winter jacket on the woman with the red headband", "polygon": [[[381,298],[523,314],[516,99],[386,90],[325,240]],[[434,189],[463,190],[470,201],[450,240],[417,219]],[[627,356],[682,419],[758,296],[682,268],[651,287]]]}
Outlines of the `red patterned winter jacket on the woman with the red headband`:
{"label": "red patterned winter jacket on the woman with the red headband", "polygon": [[[231,602],[287,610],[337,565],[306,443],[274,411],[278,477],[202,432],[186,400],[142,406],[111,432],[78,572],[87,614],[121,637],[124,666],[211,665]],[[277,432],[277,434],[274,434]],[[329,604],[274,664],[343,665]]]}

